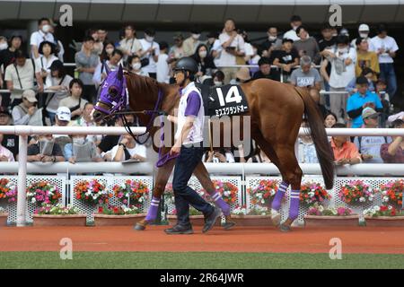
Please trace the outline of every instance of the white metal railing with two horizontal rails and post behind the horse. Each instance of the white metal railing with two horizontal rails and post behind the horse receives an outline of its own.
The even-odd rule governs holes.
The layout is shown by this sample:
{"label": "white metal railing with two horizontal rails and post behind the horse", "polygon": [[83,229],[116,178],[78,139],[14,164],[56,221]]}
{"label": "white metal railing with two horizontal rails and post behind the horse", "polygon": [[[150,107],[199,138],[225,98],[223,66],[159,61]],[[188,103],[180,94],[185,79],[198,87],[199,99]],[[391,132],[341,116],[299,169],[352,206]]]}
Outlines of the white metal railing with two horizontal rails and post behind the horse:
{"label": "white metal railing with two horizontal rails and post behind the horse", "polygon": [[[389,129],[389,128],[331,128],[326,129],[328,135],[402,135],[404,136],[404,128],[399,129]],[[145,127],[132,127],[132,132],[134,135],[140,135],[145,133]],[[308,129],[301,128],[299,135],[306,135]],[[0,134],[5,135],[19,135],[19,161],[18,163],[8,163],[13,169],[18,168],[18,184],[17,188],[19,191],[25,191],[26,188],[26,177],[27,177],[27,147],[28,147],[28,135],[124,135],[127,131],[124,127],[118,126],[0,126]],[[62,164],[65,164],[62,166]],[[55,173],[57,169],[61,169],[65,172],[66,169],[70,172],[108,172],[109,167],[107,164],[111,163],[97,163],[92,162],[83,164],[68,164],[68,163],[54,163],[54,164],[30,164],[31,170],[42,170],[47,171],[47,173]],[[133,167],[144,168],[147,171],[151,171],[150,163],[137,163]],[[147,165],[148,164],[148,165]],[[123,169],[123,163],[118,163],[116,166],[110,166],[113,172],[117,172],[119,169]],[[1,165],[1,169],[6,166]],[[247,172],[250,173],[277,173],[277,168],[272,164],[215,164],[206,163],[206,167],[209,172],[217,173],[242,173],[244,175]],[[363,164],[351,167],[341,167],[338,168],[340,172],[345,172],[345,174],[358,174],[364,172],[363,174],[371,175],[376,173],[390,174],[390,175],[403,175],[402,165],[398,164]],[[233,171],[232,171],[233,170]],[[319,165],[303,165],[303,170],[306,173],[315,172],[321,174]],[[382,171],[381,171],[382,170]],[[135,170],[133,170],[135,172]],[[4,171],[13,172],[13,171]],[[35,171],[33,171],[35,172]],[[124,171],[125,172],[125,171]],[[126,170],[127,172],[127,170]],[[19,192],[17,198],[17,226],[25,225],[25,203],[26,203],[26,193]]]}

